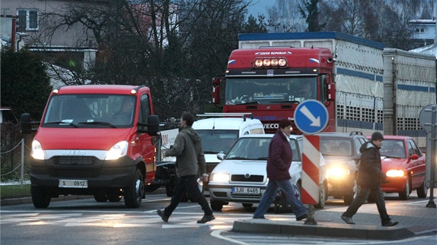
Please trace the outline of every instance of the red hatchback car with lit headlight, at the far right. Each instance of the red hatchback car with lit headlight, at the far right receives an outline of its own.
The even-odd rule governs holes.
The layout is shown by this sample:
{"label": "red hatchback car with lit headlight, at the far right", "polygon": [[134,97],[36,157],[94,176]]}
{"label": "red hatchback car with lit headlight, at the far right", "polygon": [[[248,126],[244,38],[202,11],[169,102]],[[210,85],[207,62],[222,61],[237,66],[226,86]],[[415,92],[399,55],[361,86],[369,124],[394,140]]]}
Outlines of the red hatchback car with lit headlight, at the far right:
{"label": "red hatchback car with lit headlight, at the far right", "polygon": [[382,191],[397,192],[402,200],[409,199],[412,190],[419,198],[427,197],[425,186],[425,154],[409,136],[384,135],[381,152],[382,172],[387,179]]}

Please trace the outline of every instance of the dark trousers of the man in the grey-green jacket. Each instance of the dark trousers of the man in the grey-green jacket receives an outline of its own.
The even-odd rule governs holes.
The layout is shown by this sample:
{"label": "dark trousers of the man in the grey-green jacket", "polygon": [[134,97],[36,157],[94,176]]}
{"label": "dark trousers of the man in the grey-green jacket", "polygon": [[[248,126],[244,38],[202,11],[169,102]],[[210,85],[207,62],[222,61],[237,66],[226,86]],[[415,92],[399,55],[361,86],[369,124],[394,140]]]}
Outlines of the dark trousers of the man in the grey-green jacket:
{"label": "dark trousers of the man in the grey-green jacket", "polygon": [[212,215],[212,210],[209,208],[209,203],[205,197],[203,197],[202,192],[200,192],[197,183],[196,175],[181,176],[178,178],[178,183],[176,183],[175,190],[173,192],[173,197],[171,197],[171,202],[169,206],[164,209],[164,215],[170,217],[173,210],[178,207],[180,198],[184,192],[189,194],[191,201],[199,203],[202,207],[205,215]]}

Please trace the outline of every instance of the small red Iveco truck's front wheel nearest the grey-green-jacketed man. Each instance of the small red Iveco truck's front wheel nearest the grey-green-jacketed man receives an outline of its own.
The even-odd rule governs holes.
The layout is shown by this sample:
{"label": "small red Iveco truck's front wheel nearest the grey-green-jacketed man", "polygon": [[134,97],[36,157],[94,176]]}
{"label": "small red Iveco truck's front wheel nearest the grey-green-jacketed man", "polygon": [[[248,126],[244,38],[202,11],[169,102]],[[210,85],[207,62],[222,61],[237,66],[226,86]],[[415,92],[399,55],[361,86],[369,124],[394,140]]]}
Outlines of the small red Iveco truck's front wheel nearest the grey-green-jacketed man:
{"label": "small red Iveco truck's front wheel nearest the grey-green-jacketed man", "polygon": [[135,170],[132,185],[124,190],[124,203],[128,208],[139,208],[144,194],[144,179],[139,169]]}

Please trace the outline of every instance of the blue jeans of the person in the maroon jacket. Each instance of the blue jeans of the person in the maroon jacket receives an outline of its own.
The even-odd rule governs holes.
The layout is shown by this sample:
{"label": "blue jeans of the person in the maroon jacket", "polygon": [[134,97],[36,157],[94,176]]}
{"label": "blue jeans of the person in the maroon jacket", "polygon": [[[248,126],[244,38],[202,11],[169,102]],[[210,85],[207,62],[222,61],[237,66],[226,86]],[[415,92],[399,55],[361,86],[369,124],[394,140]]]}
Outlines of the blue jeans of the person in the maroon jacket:
{"label": "blue jeans of the person in the maroon jacket", "polygon": [[289,202],[296,217],[305,215],[308,212],[307,208],[305,208],[305,206],[295,196],[294,187],[289,179],[284,181],[270,179],[267,184],[266,192],[262,195],[261,201],[259,201],[258,208],[255,210],[253,217],[264,218],[264,214],[266,214],[268,208],[270,208],[273,203],[273,199],[275,199],[278,188],[281,188],[282,192],[284,192],[286,200]]}

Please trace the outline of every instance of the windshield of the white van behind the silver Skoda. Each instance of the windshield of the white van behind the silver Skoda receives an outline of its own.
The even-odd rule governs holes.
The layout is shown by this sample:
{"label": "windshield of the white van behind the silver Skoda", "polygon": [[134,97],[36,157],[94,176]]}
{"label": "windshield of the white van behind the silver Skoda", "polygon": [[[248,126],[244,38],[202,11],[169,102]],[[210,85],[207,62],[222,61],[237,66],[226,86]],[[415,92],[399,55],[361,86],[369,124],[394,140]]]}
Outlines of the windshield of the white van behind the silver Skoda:
{"label": "windshield of the white van behind the silver Skoda", "polygon": [[238,130],[196,129],[205,154],[227,153],[238,139]]}

